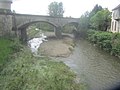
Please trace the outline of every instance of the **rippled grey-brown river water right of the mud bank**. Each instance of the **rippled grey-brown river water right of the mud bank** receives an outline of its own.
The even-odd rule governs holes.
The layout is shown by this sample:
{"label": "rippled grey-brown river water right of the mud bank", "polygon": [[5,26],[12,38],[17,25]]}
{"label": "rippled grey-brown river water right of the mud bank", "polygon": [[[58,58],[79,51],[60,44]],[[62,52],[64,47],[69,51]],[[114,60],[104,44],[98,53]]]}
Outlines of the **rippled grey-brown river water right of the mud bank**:
{"label": "rippled grey-brown river water right of the mud bank", "polygon": [[73,69],[88,90],[110,90],[120,85],[120,59],[109,55],[85,40],[76,43],[67,58],[59,58]]}

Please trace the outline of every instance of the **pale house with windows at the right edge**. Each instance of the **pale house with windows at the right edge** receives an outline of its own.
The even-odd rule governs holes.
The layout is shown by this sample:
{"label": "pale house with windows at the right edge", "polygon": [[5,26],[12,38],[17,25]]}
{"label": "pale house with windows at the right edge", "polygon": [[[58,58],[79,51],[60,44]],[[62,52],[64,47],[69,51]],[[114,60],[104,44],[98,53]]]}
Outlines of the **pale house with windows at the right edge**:
{"label": "pale house with windows at the right edge", "polygon": [[112,10],[111,32],[120,32],[120,4]]}

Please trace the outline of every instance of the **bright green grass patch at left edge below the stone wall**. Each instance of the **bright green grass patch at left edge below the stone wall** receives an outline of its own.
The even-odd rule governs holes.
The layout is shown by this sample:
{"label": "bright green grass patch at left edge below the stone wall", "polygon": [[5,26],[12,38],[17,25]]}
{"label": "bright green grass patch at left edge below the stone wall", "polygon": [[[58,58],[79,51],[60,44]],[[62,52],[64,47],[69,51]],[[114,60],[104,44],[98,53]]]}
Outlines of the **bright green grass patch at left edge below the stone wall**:
{"label": "bright green grass patch at left edge below the stone wall", "polygon": [[20,50],[18,40],[0,38],[0,67],[9,59],[10,55]]}

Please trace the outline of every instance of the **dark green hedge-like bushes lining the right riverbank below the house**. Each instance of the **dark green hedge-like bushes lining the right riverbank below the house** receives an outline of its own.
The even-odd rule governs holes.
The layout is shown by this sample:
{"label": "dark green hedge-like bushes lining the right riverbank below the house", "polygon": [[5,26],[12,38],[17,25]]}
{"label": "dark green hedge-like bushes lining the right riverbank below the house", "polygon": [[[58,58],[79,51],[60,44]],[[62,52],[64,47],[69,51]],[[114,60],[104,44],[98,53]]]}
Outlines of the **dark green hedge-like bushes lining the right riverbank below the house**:
{"label": "dark green hedge-like bushes lining the right riverbank below the house", "polygon": [[88,40],[115,56],[120,56],[120,34],[89,30]]}

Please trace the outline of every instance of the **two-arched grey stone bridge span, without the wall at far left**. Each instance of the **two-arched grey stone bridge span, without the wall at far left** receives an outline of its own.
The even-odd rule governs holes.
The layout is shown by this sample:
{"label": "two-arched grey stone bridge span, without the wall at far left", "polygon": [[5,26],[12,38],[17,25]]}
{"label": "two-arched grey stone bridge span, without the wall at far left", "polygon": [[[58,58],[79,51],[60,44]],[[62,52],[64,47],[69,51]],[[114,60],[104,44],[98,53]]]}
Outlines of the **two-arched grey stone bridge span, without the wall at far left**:
{"label": "two-arched grey stone bridge span, without the wall at far left", "polygon": [[68,18],[68,17],[52,17],[52,16],[42,16],[42,15],[27,15],[27,14],[13,14],[13,29],[16,29],[22,40],[27,40],[26,28],[36,22],[47,22],[54,26],[55,35],[61,38],[61,29],[66,24],[72,23],[77,27],[79,23],[78,18]]}

